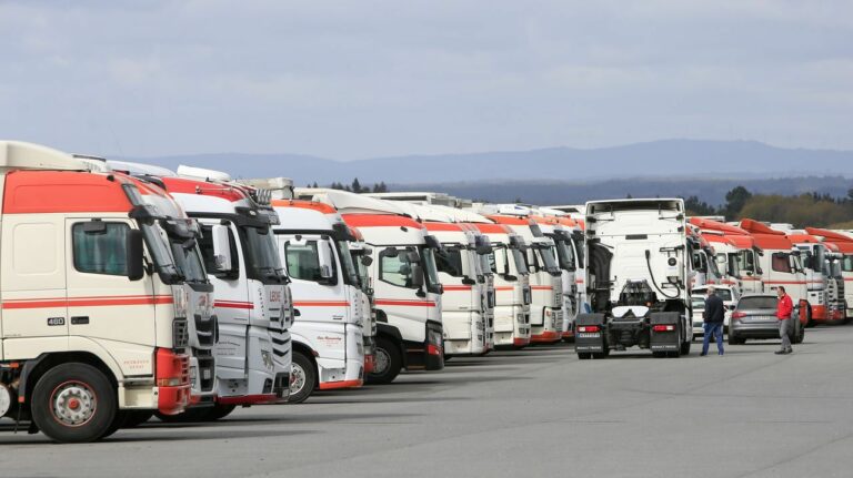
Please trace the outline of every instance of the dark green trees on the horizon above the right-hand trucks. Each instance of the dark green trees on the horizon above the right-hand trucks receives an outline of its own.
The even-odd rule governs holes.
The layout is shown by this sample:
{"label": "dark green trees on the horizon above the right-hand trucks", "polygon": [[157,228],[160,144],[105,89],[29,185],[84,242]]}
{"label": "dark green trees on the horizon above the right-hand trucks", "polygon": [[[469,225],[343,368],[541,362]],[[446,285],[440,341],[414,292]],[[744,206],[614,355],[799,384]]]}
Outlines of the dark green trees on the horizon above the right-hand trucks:
{"label": "dark green trees on the horizon above the right-hand trucks", "polygon": [[846,197],[833,197],[817,192],[792,196],[753,194],[744,186],[736,186],[725,194],[725,204],[713,206],[690,196],[684,200],[684,206],[688,214],[720,215],[727,221],[750,217],[795,227],[853,228],[853,189]]}

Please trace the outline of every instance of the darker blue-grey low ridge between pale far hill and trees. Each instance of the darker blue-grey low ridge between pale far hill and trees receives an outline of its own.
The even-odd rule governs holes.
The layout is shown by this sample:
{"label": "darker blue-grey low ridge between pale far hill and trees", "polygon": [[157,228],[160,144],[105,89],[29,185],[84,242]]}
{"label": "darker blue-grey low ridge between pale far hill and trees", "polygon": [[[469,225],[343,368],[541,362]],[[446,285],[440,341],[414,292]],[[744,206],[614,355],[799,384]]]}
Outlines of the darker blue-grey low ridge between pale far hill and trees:
{"label": "darker blue-grey low ridge between pale far hill and trees", "polygon": [[455,183],[389,184],[391,191],[438,191],[458,197],[489,202],[522,202],[532,204],[582,204],[591,200],[625,197],[690,197],[720,205],[725,193],[742,185],[752,193],[796,195],[819,192],[846,197],[853,181],[843,176],[799,176],[777,179],[695,179],[695,177],[628,177],[606,181],[480,181]]}

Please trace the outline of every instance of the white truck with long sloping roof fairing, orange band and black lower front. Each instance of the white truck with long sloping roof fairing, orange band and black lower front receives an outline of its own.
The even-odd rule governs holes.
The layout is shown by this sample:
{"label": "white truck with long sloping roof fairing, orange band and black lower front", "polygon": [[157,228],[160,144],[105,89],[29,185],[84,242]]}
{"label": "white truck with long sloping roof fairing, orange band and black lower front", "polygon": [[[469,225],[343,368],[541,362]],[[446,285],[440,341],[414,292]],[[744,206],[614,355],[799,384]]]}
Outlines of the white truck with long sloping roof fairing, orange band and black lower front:
{"label": "white truck with long sloping roof fairing, orange band and black lower front", "polygon": [[444,368],[443,287],[435,266],[435,252],[442,248],[439,240],[391,201],[301,187],[294,197],[335,207],[374,252],[368,268],[375,291],[375,363],[368,380],[391,383],[403,368]]}

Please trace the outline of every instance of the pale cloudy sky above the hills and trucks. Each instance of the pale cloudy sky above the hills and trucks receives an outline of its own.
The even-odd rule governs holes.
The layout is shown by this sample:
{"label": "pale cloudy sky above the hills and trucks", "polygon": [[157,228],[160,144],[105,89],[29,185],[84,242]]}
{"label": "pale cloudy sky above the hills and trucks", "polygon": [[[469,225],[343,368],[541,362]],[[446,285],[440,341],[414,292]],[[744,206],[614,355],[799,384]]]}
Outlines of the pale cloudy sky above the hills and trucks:
{"label": "pale cloudy sky above the hills and trucks", "polygon": [[0,0],[3,139],[338,160],[853,150],[853,2]]}

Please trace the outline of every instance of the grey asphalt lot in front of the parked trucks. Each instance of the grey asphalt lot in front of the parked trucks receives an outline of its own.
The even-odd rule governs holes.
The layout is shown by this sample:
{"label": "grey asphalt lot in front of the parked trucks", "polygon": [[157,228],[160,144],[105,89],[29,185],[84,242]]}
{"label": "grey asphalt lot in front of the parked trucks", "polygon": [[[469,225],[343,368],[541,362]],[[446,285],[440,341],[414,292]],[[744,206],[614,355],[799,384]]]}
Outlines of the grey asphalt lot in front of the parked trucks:
{"label": "grey asphalt lot in front of the parked trucks", "polygon": [[153,421],[92,445],[2,421],[0,477],[853,476],[853,326],[809,329],[794,355],[776,347],[455,358],[390,386],[215,425]]}

